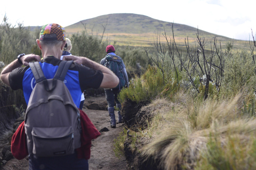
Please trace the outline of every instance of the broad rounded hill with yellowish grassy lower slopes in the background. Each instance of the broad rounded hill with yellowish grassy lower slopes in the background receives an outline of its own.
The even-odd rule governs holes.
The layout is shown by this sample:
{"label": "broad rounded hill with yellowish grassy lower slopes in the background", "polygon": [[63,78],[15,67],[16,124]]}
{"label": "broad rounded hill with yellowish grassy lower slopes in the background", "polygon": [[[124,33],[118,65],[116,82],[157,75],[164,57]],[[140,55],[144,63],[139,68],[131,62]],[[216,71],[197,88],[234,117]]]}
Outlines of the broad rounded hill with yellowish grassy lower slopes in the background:
{"label": "broad rounded hill with yellowish grassy lower slopes in the background", "polygon": [[[96,18],[74,23],[65,29],[68,36],[72,33],[85,30],[90,35],[98,35],[101,37],[104,30],[103,28],[106,28],[103,39],[108,39],[112,42],[116,41],[116,44],[121,46],[153,46],[157,35],[160,35],[161,42],[165,43],[166,41],[162,35],[164,29],[167,37],[172,37],[171,22],[160,21],[145,15],[131,13],[101,15]],[[185,46],[184,42],[186,37],[189,37],[189,43],[193,43],[193,45],[197,42],[197,28],[178,23],[173,23],[173,28],[177,44]],[[214,37],[217,37],[218,41],[222,43],[232,41],[234,42],[235,48],[244,47],[246,44],[246,41],[234,40],[203,30],[199,30],[199,36],[202,39],[205,38],[207,42],[212,41]]]}

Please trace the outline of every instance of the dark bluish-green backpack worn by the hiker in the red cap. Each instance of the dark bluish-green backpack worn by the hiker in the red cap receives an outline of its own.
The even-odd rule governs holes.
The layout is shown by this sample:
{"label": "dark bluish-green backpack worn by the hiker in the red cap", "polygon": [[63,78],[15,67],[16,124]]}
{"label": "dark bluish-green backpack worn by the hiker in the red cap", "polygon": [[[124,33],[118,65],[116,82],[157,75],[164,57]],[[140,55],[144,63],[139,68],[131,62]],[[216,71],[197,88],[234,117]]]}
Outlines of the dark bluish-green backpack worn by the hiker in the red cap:
{"label": "dark bluish-green backpack worn by the hiker in the red cap", "polygon": [[124,79],[124,73],[123,73],[123,64],[122,59],[119,56],[116,55],[107,55],[106,57],[106,63],[105,66],[108,67],[111,71],[113,71],[116,76],[119,78],[119,84],[115,88],[122,89],[122,87],[125,86],[125,79]]}

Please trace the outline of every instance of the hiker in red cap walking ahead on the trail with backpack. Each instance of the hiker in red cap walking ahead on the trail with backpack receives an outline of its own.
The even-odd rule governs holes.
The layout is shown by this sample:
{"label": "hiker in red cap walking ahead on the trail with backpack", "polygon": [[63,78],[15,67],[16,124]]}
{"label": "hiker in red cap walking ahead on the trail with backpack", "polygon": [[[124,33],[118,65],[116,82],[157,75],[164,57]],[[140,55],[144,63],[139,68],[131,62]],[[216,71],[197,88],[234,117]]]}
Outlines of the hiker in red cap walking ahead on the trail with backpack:
{"label": "hiker in red cap walking ahead on the trail with backpack", "polygon": [[100,64],[108,67],[119,79],[119,84],[115,88],[105,88],[105,95],[108,102],[108,113],[110,117],[110,127],[116,128],[115,102],[116,107],[118,108],[117,123],[122,123],[122,115],[120,112],[122,105],[117,97],[123,87],[129,87],[129,79],[122,58],[115,54],[115,47],[113,45],[108,45],[106,47],[106,53],[107,55],[102,58]]}

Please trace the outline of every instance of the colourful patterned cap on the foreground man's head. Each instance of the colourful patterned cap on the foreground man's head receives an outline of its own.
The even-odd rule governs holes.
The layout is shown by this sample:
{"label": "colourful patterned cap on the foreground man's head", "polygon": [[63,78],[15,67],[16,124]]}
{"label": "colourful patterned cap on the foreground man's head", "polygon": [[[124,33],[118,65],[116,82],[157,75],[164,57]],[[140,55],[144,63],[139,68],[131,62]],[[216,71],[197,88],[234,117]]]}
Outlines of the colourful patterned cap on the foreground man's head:
{"label": "colourful patterned cap on the foreground man's head", "polygon": [[39,39],[66,41],[65,28],[56,23],[46,24],[42,27]]}

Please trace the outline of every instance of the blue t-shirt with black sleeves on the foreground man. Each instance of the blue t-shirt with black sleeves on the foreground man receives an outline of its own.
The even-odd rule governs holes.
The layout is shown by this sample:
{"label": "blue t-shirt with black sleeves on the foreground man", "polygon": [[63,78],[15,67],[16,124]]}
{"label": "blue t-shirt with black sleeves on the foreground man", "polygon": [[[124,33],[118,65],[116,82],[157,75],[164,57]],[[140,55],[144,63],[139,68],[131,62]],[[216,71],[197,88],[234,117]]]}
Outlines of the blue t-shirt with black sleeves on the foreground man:
{"label": "blue t-shirt with black sleeves on the foreground man", "polygon": [[[39,64],[46,79],[52,79],[59,67],[61,60],[54,56],[45,57]],[[65,84],[79,108],[82,92],[87,88],[99,88],[103,79],[101,71],[73,63],[65,77]],[[22,89],[28,104],[29,97],[35,87],[35,78],[29,66],[14,69],[9,75],[10,86],[13,90]]]}

